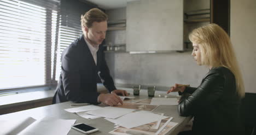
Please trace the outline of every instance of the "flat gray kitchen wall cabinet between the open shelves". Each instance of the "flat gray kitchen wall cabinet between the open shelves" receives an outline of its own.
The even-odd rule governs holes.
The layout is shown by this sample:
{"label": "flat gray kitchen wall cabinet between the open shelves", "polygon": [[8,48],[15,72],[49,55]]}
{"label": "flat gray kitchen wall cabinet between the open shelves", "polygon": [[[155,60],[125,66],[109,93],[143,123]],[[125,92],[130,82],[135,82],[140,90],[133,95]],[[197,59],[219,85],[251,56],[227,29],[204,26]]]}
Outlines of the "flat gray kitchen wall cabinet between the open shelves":
{"label": "flat gray kitchen wall cabinet between the open shelves", "polygon": [[126,51],[182,51],[183,0],[127,2]]}

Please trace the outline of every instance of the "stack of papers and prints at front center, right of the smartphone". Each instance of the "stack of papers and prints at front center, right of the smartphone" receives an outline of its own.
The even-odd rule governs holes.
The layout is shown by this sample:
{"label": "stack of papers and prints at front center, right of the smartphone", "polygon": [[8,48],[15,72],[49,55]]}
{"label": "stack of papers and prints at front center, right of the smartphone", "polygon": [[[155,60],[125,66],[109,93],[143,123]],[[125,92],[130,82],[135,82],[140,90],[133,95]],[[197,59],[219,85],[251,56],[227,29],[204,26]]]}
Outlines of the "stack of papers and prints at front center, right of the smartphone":
{"label": "stack of papers and prints at front center, right of the smartphone", "polygon": [[172,118],[167,118],[159,114],[148,111],[136,111],[126,114],[118,119],[108,119],[116,126],[111,134],[161,134],[164,135],[178,123],[170,122]]}

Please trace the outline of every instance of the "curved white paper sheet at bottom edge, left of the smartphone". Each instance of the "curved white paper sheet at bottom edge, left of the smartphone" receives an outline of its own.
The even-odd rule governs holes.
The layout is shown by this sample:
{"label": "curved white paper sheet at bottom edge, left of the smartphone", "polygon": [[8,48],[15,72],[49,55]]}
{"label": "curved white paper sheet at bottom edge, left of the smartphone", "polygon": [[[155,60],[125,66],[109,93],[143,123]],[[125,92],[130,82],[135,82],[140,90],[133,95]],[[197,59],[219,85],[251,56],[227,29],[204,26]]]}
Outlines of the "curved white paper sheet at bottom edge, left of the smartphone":
{"label": "curved white paper sheet at bottom edge, left of the smartphone", "polygon": [[19,135],[65,135],[68,134],[71,126],[76,120],[63,119],[42,119],[33,122],[30,126],[21,131]]}

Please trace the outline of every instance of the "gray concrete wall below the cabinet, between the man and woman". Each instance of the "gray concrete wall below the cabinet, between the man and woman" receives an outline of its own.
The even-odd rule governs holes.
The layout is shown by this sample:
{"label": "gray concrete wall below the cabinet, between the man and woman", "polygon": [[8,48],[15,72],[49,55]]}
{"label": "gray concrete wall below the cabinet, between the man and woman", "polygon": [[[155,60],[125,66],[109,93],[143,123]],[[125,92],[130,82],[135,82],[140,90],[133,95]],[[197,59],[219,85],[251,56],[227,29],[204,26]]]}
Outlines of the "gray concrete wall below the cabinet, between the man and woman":
{"label": "gray concrete wall below the cabinet, between the man and woman", "polygon": [[[209,8],[210,1],[203,3],[201,7],[202,9]],[[189,10],[196,9],[190,8]],[[125,8],[107,10],[106,13],[111,20],[123,19]],[[120,15],[117,15],[117,13]],[[106,36],[107,43],[115,43],[115,41],[112,40],[112,36],[114,36],[113,33],[117,34],[123,32],[108,31]],[[170,37],[171,36],[172,35],[170,35]],[[120,41],[117,40],[116,43],[118,42]],[[170,42],[172,41],[170,40]],[[116,84],[141,84],[170,87],[174,83],[181,83],[196,87],[200,84],[203,76],[208,72],[206,67],[197,66],[191,57],[191,51],[157,54],[107,52],[106,60]]]}

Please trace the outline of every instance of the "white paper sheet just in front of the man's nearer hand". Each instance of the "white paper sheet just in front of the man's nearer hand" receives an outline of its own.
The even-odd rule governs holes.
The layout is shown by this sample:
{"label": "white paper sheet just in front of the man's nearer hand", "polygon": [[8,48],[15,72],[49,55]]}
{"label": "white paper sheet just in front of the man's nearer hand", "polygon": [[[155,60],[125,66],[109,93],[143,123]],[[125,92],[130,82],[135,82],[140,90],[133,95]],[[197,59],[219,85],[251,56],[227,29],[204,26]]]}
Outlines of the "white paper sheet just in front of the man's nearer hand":
{"label": "white paper sheet just in front of the man's nearer hand", "polygon": [[115,119],[125,114],[131,113],[135,109],[117,108],[117,107],[104,107],[96,110],[87,111],[86,114],[101,116],[104,118]]}

